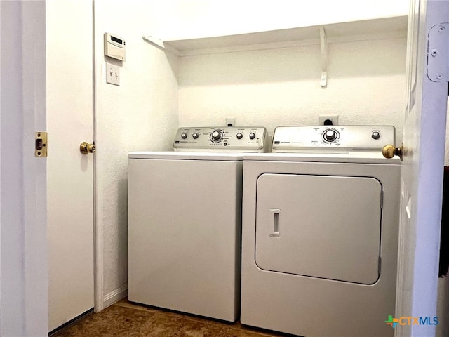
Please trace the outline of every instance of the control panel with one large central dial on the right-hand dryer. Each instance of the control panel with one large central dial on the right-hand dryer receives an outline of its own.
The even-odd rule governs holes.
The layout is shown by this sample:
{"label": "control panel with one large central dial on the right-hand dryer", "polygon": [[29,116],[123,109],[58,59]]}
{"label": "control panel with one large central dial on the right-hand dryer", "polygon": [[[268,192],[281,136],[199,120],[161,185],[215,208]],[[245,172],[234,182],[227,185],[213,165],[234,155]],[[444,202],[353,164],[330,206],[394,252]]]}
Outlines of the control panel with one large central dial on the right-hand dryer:
{"label": "control panel with one large central dial on the right-hand dryer", "polygon": [[380,150],[394,143],[394,126],[278,126],[272,151]]}

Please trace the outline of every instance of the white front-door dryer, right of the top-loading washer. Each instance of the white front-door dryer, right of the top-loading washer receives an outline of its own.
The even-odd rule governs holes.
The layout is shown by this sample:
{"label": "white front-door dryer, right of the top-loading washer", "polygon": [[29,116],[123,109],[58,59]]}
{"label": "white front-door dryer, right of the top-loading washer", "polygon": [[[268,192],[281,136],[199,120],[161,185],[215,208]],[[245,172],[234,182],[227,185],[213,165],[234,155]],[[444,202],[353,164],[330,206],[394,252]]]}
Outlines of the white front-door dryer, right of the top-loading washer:
{"label": "white front-door dryer, right of the top-loading washer", "polygon": [[400,161],[387,144],[393,126],[278,127],[277,153],[245,156],[242,324],[394,335]]}

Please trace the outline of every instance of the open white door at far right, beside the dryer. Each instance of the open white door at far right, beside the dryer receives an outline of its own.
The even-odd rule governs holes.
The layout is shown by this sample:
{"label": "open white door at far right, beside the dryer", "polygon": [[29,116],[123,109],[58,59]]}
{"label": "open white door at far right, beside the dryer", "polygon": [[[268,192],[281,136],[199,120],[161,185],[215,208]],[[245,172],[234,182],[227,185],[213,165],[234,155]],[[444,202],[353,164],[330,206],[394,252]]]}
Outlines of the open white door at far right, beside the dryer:
{"label": "open white door at far right, beside the dryer", "polygon": [[440,81],[432,67],[427,72],[427,36],[436,34],[438,39],[441,34],[444,42],[430,47],[431,52],[436,49],[436,55],[429,56],[430,62],[441,58],[447,64],[448,54],[443,55],[444,46],[449,47],[447,22],[449,1],[411,1],[395,318],[430,317],[427,322],[431,324],[417,325],[411,320],[409,325],[403,319],[396,326],[396,336],[428,337],[436,331],[433,318],[436,317],[448,73],[443,68],[438,70],[443,77]]}

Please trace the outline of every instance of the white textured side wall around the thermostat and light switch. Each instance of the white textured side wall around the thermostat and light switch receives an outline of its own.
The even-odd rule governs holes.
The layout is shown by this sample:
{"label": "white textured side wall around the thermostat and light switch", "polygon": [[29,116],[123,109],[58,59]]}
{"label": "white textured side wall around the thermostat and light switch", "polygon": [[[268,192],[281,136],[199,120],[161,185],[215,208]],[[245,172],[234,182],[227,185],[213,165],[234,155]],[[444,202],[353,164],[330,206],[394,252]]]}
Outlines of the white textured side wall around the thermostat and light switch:
{"label": "white textured side wall around the thermostat and light switch", "polygon": [[[106,305],[126,294],[128,282],[128,152],[170,150],[178,125],[177,59],[142,39],[164,17],[157,2],[95,1],[96,209]],[[105,58],[104,32],[126,41],[125,62]],[[119,65],[120,86],[105,83],[105,60]]]}

